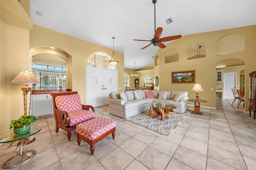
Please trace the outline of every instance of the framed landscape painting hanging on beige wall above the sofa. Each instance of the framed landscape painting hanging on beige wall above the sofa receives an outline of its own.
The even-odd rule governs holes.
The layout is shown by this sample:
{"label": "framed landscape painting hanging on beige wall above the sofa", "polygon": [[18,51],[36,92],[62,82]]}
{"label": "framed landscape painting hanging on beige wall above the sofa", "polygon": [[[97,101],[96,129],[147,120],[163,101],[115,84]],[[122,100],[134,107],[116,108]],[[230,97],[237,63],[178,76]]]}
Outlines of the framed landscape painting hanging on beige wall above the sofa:
{"label": "framed landscape painting hanging on beige wall above the sofa", "polygon": [[172,72],[172,83],[195,83],[195,82],[196,82],[196,70]]}

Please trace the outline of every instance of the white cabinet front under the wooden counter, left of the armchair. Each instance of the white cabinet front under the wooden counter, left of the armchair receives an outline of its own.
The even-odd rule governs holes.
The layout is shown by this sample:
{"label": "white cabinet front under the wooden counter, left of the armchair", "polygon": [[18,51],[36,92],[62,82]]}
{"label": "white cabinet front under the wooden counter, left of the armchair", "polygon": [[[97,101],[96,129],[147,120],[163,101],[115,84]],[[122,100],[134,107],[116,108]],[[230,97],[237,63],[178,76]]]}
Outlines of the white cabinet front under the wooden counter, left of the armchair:
{"label": "white cabinet front under the wooden counter, left of the armchair", "polygon": [[53,114],[52,96],[49,94],[32,95],[32,115],[42,116]]}

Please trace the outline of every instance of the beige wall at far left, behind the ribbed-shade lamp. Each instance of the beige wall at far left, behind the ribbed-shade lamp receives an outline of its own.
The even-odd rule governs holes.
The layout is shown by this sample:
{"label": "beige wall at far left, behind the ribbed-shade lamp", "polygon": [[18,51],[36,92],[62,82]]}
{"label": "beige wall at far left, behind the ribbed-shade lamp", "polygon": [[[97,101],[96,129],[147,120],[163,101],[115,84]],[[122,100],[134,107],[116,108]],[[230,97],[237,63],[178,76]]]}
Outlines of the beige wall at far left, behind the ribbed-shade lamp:
{"label": "beige wall at far left, behind the ribbed-shade lamp", "polygon": [[18,1],[0,1],[0,133],[24,114],[22,83],[10,83],[30,68],[29,29],[32,21]]}

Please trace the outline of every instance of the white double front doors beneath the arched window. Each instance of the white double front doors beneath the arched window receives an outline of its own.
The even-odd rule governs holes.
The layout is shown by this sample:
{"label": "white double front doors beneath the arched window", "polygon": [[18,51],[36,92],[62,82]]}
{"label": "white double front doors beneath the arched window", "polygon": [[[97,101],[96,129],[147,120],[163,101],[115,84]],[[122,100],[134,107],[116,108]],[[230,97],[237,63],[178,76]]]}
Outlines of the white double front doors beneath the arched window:
{"label": "white double front doors beneath the arched window", "polygon": [[117,91],[117,70],[86,66],[86,105],[108,105],[108,95]]}

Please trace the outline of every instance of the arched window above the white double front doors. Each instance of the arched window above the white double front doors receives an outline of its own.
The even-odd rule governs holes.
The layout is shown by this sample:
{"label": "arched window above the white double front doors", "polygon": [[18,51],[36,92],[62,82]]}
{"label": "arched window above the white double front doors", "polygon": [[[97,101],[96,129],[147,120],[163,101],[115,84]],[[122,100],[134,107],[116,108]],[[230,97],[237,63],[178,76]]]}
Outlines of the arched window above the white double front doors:
{"label": "arched window above the white double front doors", "polygon": [[111,60],[111,56],[104,52],[95,52],[92,53],[87,59],[87,66],[92,66],[92,58],[95,57],[98,59],[98,67],[105,69],[116,69],[116,65],[111,65],[108,61]]}

